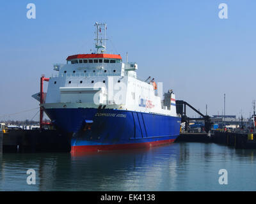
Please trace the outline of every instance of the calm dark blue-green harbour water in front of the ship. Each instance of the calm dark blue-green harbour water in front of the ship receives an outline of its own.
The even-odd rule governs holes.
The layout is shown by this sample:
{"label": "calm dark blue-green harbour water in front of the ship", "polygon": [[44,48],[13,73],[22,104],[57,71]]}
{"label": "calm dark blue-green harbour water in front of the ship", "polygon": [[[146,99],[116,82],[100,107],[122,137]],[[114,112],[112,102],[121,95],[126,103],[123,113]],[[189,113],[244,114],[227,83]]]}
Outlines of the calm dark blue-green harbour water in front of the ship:
{"label": "calm dark blue-green harbour water in front of the ship", "polygon": [[[255,191],[256,150],[173,143],[148,150],[83,156],[3,154],[1,191]],[[28,169],[36,184],[28,185]],[[218,180],[228,172],[228,184]]]}

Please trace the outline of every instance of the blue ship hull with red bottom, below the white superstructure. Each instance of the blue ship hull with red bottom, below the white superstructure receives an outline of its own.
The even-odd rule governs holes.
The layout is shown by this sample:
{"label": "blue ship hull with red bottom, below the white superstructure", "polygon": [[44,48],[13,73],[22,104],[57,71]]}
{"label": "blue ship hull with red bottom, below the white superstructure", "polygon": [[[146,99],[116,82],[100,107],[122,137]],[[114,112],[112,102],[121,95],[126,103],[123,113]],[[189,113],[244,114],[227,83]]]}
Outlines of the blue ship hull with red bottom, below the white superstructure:
{"label": "blue ship hull with red bottom, below the white superstructure", "polygon": [[45,112],[71,139],[72,152],[152,147],[175,141],[180,117],[128,110],[52,108]]}

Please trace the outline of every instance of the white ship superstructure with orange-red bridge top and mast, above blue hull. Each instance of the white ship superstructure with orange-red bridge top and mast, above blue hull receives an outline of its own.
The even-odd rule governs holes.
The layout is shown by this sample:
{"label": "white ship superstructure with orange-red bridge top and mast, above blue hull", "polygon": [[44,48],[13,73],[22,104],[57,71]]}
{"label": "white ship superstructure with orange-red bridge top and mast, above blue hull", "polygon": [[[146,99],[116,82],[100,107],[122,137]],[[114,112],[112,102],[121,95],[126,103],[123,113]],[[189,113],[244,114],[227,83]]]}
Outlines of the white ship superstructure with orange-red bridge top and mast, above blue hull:
{"label": "white ship superstructure with orange-red bridge top and mast, above blue hull", "polygon": [[[111,108],[176,117],[175,94],[157,93],[153,80],[139,80],[136,62],[123,62],[120,55],[105,54],[106,24],[95,24],[97,53],[67,57],[67,64],[54,64],[44,108]],[[104,33],[102,33],[104,31]],[[170,103],[166,103],[166,100]],[[166,105],[167,104],[167,105]],[[166,106],[164,106],[166,105]]]}

